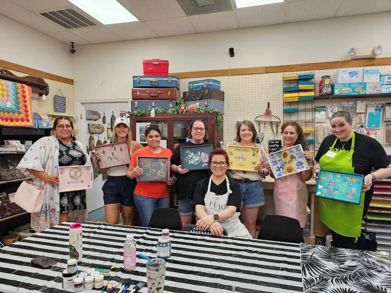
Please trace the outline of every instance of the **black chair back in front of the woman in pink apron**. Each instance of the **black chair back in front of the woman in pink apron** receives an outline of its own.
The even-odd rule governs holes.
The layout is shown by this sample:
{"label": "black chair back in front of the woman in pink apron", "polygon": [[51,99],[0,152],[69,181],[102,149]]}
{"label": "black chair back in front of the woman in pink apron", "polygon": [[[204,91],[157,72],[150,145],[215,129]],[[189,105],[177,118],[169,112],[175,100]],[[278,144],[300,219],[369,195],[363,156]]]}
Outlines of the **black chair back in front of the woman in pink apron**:
{"label": "black chair back in front of the woman in pink apron", "polygon": [[257,238],[289,243],[304,242],[303,231],[298,220],[271,214],[265,216]]}

